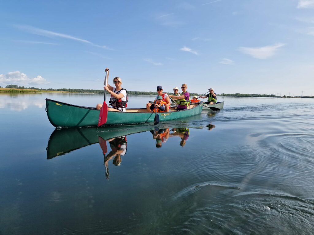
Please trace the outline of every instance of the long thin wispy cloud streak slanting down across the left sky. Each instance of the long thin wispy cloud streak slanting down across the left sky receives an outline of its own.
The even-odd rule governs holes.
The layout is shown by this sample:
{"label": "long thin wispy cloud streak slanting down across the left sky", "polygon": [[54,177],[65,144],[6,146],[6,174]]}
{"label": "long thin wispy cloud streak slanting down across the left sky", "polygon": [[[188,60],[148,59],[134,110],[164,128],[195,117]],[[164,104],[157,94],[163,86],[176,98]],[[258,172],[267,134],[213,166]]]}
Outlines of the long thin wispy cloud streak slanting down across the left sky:
{"label": "long thin wispy cloud streak slanting down across the left sky", "polygon": [[100,47],[100,48],[103,48],[103,49],[111,50],[107,46],[97,45],[97,44],[92,43],[92,42],[90,42],[88,40],[77,38],[77,37],[73,37],[73,36],[68,35],[68,34],[56,33],[56,32],[52,32],[52,31],[45,30],[45,29],[38,29],[38,28],[35,28],[33,26],[29,26],[29,25],[14,25],[14,27],[16,27],[18,29],[21,29],[21,30],[23,30],[25,32],[28,32],[30,34],[37,34],[37,35],[41,35],[41,36],[44,36],[44,37],[50,37],[50,38],[51,37],[66,38],[66,39],[71,39],[71,40],[83,42],[83,43],[86,43],[86,44],[90,44],[92,46]]}

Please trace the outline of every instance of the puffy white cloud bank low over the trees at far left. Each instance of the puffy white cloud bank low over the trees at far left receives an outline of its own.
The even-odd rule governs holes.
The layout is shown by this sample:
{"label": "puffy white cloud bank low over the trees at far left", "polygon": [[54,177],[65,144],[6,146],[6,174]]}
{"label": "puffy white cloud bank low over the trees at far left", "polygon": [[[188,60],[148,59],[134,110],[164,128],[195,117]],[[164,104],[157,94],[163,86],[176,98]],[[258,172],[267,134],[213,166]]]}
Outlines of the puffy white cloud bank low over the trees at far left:
{"label": "puffy white cloud bank low over the trees at far left", "polygon": [[15,85],[39,85],[47,84],[47,80],[42,76],[38,75],[34,78],[29,78],[26,74],[20,71],[9,72],[6,75],[0,74],[0,83],[4,84],[15,84]]}

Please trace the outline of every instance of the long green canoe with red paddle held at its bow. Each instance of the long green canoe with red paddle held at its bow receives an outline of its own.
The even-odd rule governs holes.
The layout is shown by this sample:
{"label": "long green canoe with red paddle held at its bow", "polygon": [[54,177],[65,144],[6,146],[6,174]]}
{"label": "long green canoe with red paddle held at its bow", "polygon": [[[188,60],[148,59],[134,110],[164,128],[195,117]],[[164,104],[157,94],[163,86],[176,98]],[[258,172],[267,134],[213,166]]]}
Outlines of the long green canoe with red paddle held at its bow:
{"label": "long green canoe with red paddle held at its bow", "polygon": [[[174,108],[171,108],[174,109]],[[159,113],[160,121],[187,118],[202,112],[203,102],[190,104],[187,110]],[[46,112],[50,123],[56,128],[62,127],[96,127],[100,110],[46,99]],[[130,108],[126,112],[109,111],[107,122],[103,126],[127,125],[154,122],[155,113],[146,108]]]}

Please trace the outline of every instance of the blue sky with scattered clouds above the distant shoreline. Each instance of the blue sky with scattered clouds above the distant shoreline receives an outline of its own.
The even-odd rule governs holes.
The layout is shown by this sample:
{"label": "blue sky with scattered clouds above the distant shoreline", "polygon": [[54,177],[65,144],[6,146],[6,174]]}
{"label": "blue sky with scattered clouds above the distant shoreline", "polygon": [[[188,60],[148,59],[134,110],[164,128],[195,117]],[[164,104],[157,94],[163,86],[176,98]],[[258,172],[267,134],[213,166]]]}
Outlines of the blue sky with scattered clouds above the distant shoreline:
{"label": "blue sky with scattered clouds above the distant shoreline", "polygon": [[314,95],[314,0],[0,5],[1,86]]}

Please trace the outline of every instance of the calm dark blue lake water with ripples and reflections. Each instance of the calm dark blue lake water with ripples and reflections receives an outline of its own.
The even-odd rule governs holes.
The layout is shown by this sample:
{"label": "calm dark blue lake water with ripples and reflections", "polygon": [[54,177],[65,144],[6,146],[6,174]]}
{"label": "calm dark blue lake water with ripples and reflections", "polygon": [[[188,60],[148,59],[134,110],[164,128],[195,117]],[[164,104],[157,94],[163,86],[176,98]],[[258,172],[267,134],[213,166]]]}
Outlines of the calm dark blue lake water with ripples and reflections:
{"label": "calm dark blue lake water with ripples and reflections", "polygon": [[55,130],[45,98],[103,100],[0,94],[1,235],[314,233],[314,99],[219,97],[219,112],[155,128]]}

